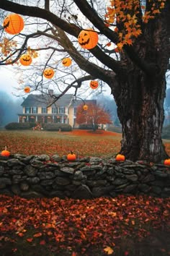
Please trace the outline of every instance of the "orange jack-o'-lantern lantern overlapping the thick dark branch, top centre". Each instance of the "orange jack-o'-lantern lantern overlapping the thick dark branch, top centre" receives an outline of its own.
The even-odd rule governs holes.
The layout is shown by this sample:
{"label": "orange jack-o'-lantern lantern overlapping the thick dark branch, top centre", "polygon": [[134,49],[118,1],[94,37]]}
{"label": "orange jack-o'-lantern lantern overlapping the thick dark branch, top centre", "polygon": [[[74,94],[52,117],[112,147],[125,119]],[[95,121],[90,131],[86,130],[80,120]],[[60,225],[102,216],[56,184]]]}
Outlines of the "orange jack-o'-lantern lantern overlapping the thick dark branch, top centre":
{"label": "orange jack-o'-lantern lantern overlapping the thick dark branch, top centre", "polygon": [[92,49],[97,46],[98,34],[92,28],[81,30],[78,36],[79,45],[84,49]]}

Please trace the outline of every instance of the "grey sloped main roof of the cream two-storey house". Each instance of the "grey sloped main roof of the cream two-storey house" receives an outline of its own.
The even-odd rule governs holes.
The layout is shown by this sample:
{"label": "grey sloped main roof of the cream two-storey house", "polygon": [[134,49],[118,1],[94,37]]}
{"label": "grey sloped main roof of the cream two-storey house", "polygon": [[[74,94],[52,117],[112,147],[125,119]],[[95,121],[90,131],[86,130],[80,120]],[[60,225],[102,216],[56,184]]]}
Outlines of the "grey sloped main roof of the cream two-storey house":
{"label": "grey sloped main roof of the cream two-storey house", "polygon": [[[68,106],[71,104],[72,98],[72,94],[65,94],[59,98],[53,106]],[[24,99],[21,106],[48,106],[50,101],[51,98],[48,95],[30,94]]]}

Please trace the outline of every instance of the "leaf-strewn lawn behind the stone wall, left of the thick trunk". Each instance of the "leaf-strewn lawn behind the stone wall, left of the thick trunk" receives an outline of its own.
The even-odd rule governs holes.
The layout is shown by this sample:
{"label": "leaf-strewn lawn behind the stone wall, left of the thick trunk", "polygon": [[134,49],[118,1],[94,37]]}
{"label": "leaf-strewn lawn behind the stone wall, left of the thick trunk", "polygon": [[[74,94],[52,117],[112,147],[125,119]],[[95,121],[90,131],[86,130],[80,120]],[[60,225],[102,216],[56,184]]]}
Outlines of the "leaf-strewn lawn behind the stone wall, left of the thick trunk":
{"label": "leaf-strewn lawn behind the stone wall, left of the thick trunk", "polygon": [[1,131],[0,151],[4,146],[24,155],[47,153],[67,155],[71,150],[79,156],[112,156],[120,150],[121,135],[114,132],[73,130],[72,132]]}

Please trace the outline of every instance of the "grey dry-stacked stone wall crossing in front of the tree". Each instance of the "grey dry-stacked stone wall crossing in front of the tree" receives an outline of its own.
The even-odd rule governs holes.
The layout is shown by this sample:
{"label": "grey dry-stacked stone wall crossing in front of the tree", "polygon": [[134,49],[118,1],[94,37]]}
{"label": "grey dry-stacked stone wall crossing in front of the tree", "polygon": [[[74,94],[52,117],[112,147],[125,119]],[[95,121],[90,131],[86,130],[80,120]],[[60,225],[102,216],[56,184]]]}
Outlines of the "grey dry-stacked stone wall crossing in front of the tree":
{"label": "grey dry-stacked stone wall crossing in front of the tree", "polygon": [[53,155],[0,157],[0,194],[87,199],[117,195],[170,196],[170,166]]}

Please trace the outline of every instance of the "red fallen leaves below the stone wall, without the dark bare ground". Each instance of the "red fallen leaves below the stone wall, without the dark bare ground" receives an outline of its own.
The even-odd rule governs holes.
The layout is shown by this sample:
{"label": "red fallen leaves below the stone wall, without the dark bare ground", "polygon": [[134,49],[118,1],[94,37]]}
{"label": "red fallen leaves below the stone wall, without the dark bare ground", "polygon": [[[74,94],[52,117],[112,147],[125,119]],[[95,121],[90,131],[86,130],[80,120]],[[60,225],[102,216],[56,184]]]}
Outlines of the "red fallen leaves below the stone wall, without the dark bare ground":
{"label": "red fallen leaves below the stone wall, without the dark bare ground", "polygon": [[59,248],[71,248],[73,253],[79,244],[80,254],[94,246],[114,255],[116,241],[122,236],[141,239],[150,234],[151,228],[168,229],[170,222],[168,198],[124,195],[94,200],[58,197],[27,200],[6,195],[0,198],[1,242],[11,241],[14,233],[27,243],[48,246],[53,242]]}

